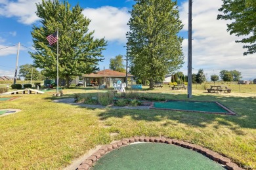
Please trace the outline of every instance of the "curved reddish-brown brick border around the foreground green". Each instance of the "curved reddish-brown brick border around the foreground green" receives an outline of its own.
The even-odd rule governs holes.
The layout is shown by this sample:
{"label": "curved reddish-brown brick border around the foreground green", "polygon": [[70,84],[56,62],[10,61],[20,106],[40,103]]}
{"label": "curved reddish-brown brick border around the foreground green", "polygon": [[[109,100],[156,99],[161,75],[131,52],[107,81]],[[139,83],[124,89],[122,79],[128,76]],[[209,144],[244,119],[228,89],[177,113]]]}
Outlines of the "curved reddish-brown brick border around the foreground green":
{"label": "curved reddish-brown brick border around the foreground green", "polygon": [[202,146],[199,146],[197,144],[190,144],[184,141],[179,141],[176,139],[169,139],[165,137],[130,137],[122,139],[120,141],[117,141],[116,143],[112,144],[106,144],[102,146],[99,150],[97,150],[94,154],[89,156],[85,161],[83,161],[79,167],[77,168],[78,170],[88,170],[93,163],[95,163],[101,156],[104,154],[107,154],[113,149],[119,148],[121,146],[126,146],[129,143],[135,143],[135,142],[150,142],[150,143],[165,143],[165,144],[176,144],[178,146],[181,146],[183,148],[188,148],[190,150],[194,150],[196,152],[199,152],[211,160],[217,161],[223,165],[225,165],[226,169],[242,169],[241,167],[238,167],[236,163],[232,163],[230,159],[221,156],[217,152],[213,152],[207,148],[203,148]]}

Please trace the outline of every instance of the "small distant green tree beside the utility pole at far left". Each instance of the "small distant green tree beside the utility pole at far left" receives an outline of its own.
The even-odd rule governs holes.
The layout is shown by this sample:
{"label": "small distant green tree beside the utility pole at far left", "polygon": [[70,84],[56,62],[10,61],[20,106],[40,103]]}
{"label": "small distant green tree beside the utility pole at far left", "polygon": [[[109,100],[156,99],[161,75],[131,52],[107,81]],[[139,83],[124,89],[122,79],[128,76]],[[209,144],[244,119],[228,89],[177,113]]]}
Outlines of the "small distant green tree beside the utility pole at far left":
{"label": "small distant green tree beside the utility pole at far left", "polygon": [[20,65],[19,75],[24,80],[42,80],[41,73],[32,64]]}

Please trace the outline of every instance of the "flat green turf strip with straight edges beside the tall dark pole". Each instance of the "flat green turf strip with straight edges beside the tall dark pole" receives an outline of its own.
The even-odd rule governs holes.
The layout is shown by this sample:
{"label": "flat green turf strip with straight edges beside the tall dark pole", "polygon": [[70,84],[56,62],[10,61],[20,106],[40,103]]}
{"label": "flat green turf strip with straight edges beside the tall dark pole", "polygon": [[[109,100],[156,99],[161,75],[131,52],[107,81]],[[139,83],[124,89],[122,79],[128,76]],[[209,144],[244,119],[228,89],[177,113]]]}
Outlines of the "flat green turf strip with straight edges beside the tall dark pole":
{"label": "flat green turf strip with straight edges beside the tall dark pole", "polygon": [[228,112],[215,102],[202,101],[168,101],[165,103],[155,102],[155,108],[177,109],[177,110],[193,110],[204,112]]}

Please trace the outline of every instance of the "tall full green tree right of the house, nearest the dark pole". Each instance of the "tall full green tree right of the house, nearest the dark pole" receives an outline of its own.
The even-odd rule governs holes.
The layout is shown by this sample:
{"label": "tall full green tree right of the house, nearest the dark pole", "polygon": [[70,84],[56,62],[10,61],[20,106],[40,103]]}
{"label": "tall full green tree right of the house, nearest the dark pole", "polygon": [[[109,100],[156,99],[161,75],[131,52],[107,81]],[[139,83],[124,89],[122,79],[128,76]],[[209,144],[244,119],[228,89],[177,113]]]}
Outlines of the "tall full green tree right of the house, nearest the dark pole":
{"label": "tall full green tree right of the house, nearest the dark pole", "polygon": [[146,77],[150,88],[174,73],[183,63],[182,29],[177,2],[170,0],[135,0],[128,22],[127,54],[130,72]]}

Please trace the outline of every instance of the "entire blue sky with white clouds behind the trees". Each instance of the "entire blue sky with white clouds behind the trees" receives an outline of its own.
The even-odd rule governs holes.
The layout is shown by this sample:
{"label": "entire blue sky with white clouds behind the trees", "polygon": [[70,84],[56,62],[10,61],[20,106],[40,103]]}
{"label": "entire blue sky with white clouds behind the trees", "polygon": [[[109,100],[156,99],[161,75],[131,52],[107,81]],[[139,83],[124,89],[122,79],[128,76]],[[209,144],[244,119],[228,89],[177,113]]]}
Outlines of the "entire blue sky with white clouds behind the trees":
{"label": "entire blue sky with white clouds behind the trees", "polygon": [[[91,19],[89,31],[95,30],[94,37],[105,37],[108,41],[102,52],[104,61],[100,70],[108,69],[110,59],[121,54],[125,56],[125,33],[129,31],[129,11],[133,0],[69,0],[72,7],[79,3],[83,15]],[[39,25],[35,3],[41,0],[0,0],[0,76],[14,77],[18,42],[20,42],[18,67],[33,64],[29,51],[33,50],[32,25]],[[179,71],[187,75],[188,58],[188,0],[178,0],[180,19],[184,24],[179,36],[184,38],[182,51],[184,65]],[[217,20],[222,1],[193,0],[192,5],[192,73],[203,73],[210,80],[211,75],[219,75],[221,70],[236,70],[243,80],[256,78],[256,54],[243,56],[246,49],[236,40],[242,37],[230,35],[226,24],[231,21]],[[10,47],[11,46],[11,47]]]}

